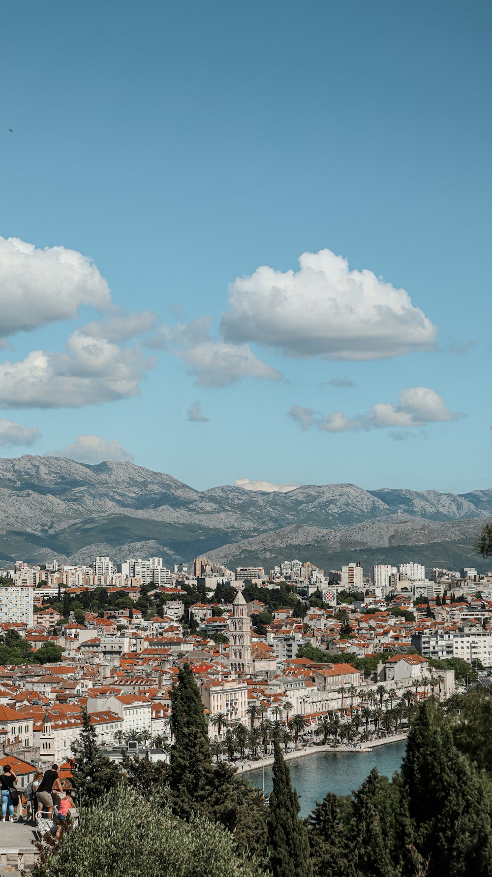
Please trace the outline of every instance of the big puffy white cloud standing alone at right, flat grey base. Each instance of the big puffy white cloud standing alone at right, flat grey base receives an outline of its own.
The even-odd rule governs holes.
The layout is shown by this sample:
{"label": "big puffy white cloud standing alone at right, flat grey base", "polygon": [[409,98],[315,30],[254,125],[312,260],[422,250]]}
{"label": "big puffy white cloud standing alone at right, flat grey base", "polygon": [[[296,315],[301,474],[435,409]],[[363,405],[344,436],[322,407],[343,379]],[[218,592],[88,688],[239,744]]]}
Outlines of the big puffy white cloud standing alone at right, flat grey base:
{"label": "big puffy white cloud standing alone at right, flat grey base", "polygon": [[331,250],[303,253],[300,270],[262,266],[229,289],[225,341],[281,347],[286,356],[377,360],[432,350],[436,327],[404,289],[350,271]]}

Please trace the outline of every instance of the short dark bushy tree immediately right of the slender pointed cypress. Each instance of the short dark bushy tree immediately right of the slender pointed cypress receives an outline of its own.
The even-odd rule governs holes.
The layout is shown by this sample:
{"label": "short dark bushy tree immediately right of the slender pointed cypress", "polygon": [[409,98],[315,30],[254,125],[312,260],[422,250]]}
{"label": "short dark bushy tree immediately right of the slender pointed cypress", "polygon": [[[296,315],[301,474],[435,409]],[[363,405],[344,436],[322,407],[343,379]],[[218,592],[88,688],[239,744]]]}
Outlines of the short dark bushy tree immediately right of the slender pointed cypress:
{"label": "short dark bushy tree immediately right of the slender pointed cypress", "polygon": [[306,820],[313,877],[352,877],[351,815],[350,798],[328,792]]}

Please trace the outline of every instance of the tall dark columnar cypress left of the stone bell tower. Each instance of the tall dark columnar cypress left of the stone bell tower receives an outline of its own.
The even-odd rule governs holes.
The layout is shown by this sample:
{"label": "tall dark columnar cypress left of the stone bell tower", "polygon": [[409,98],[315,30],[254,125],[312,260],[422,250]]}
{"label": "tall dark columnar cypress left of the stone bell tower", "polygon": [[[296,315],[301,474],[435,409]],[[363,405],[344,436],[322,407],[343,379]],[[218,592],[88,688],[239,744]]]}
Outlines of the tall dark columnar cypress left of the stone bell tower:
{"label": "tall dark columnar cypress left of the stone bell tower", "polygon": [[177,816],[207,815],[213,771],[207,723],[200,692],[189,664],[183,664],[171,689],[171,728],[175,744],[169,759],[169,790]]}

